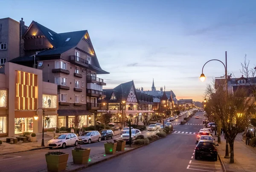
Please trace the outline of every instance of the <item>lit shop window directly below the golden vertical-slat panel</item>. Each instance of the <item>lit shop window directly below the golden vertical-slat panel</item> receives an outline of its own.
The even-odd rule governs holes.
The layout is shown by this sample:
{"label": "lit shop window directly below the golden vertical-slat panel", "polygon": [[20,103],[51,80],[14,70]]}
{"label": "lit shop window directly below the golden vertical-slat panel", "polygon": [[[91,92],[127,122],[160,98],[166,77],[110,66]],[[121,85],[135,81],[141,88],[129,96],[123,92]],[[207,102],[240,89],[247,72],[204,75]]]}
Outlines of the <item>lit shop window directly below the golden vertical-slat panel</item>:
{"label": "lit shop window directly below the golden vertical-slat panel", "polygon": [[33,118],[15,118],[15,134],[33,132]]}

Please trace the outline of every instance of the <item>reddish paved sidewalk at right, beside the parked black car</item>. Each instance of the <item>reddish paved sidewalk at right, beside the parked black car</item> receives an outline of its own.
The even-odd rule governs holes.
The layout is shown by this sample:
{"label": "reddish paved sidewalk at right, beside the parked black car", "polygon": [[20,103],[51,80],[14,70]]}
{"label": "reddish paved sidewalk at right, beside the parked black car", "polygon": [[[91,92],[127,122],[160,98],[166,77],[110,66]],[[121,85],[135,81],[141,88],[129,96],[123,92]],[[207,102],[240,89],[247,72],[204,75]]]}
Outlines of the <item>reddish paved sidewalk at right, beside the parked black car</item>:
{"label": "reddish paved sidewalk at right, beside the parked black car", "polygon": [[230,158],[224,158],[226,150],[226,140],[221,136],[221,143],[218,143],[218,152],[221,163],[226,172],[255,172],[256,171],[256,148],[245,145],[239,138],[234,143],[234,163],[230,163]]}

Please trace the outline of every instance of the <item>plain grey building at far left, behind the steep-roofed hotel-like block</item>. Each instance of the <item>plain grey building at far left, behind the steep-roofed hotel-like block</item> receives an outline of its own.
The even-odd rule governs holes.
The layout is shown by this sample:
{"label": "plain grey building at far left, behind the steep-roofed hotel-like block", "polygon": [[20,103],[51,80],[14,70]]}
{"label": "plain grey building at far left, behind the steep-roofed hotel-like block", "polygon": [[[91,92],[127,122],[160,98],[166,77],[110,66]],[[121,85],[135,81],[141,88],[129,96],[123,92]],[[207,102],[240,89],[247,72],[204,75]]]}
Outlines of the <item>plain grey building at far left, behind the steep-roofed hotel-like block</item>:
{"label": "plain grey building at far left, behind the steep-roofed hotel-like block", "polygon": [[6,62],[23,54],[21,36],[26,29],[23,19],[20,23],[9,17],[0,19],[0,73],[4,73]]}

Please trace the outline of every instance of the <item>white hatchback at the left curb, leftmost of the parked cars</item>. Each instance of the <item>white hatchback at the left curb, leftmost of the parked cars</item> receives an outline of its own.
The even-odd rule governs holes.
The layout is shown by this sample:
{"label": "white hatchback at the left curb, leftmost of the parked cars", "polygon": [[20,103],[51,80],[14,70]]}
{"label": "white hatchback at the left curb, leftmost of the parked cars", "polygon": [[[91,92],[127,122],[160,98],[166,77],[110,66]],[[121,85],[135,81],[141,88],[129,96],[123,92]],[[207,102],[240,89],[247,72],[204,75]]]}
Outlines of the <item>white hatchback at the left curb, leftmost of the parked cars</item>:
{"label": "white hatchback at the left curb, leftmost of the parked cars", "polygon": [[47,143],[49,149],[57,147],[65,148],[70,145],[78,145],[78,138],[74,133],[58,134]]}

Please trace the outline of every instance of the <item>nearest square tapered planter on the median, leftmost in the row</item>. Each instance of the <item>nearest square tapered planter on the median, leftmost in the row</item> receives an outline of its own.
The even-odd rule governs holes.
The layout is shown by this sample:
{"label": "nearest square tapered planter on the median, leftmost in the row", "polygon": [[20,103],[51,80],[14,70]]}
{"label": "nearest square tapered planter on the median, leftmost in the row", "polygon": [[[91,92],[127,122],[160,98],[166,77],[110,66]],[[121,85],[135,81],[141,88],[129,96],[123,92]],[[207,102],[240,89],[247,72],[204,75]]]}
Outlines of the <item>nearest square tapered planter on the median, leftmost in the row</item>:
{"label": "nearest square tapered planter on the median, leftmost in the row", "polygon": [[67,153],[64,152],[48,152],[45,154],[47,170],[51,172],[60,172],[66,169]]}

